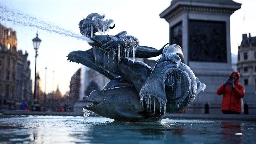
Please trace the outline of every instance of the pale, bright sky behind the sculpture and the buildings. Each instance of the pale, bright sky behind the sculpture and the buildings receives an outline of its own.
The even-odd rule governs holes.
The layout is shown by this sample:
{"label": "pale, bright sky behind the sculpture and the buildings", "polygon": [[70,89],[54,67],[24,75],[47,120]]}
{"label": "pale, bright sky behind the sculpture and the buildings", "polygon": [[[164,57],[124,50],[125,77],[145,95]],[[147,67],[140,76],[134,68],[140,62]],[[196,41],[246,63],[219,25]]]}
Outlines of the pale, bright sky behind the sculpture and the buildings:
{"label": "pale, bright sky behind the sculpture and the buildings", "polygon": [[[230,17],[231,52],[237,54],[243,33],[250,32],[252,36],[256,36],[256,1],[234,1],[242,3],[241,9]],[[37,58],[41,89],[45,90],[46,75],[46,92],[56,90],[59,85],[61,93],[65,94],[69,90],[72,75],[81,67],[81,64],[68,62],[66,56],[74,50],[88,50],[90,46],[86,41],[56,34],[52,30],[61,28],[63,33],[81,35],[78,28],[81,19],[90,13],[105,14],[106,19],[113,19],[115,23],[115,28],[109,31],[109,35],[125,30],[127,34],[136,36],[140,45],[160,49],[169,42],[169,24],[159,14],[169,6],[170,0],[0,0],[0,7],[9,11],[8,17],[11,20],[0,19],[0,23],[17,31],[17,50],[28,52],[33,81],[35,50],[32,39],[38,31],[38,37],[42,40]],[[6,13],[0,13],[0,17],[4,14]],[[13,21],[24,22],[26,26]]]}

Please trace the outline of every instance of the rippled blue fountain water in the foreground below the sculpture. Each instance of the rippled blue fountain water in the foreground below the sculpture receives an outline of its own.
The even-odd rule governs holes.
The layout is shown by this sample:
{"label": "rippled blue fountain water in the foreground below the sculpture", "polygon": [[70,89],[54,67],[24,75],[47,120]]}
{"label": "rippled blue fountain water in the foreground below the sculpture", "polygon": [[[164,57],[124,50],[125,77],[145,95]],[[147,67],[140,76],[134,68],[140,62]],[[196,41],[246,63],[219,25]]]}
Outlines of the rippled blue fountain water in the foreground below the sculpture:
{"label": "rippled blue fountain water in the foreground below the sculpture", "polygon": [[103,117],[86,122],[80,116],[0,116],[1,143],[254,143],[255,129],[253,121],[129,123]]}

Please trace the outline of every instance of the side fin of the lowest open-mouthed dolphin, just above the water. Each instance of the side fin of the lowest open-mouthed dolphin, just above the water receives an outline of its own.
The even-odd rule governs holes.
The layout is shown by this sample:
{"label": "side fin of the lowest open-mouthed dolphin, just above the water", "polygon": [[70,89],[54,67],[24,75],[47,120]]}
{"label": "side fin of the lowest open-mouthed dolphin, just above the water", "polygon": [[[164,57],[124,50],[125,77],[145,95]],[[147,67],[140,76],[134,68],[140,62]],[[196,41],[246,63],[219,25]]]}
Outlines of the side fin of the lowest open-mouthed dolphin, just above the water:
{"label": "side fin of the lowest open-mouthed dolphin, just above the water", "polygon": [[116,111],[117,111],[118,115],[120,115],[124,118],[127,118],[127,119],[143,119],[144,118],[144,116],[142,116],[142,115],[139,115],[133,111],[125,110],[123,108],[120,108],[119,106],[116,107]]}

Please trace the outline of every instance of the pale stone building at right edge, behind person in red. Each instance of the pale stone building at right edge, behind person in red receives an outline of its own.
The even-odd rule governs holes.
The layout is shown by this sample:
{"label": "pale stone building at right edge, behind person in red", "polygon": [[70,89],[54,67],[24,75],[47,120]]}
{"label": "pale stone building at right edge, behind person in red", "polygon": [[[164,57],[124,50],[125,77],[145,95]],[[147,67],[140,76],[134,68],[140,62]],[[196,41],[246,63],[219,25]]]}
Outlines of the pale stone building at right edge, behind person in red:
{"label": "pale stone building at right edge, behind person in red", "polygon": [[240,83],[253,86],[256,94],[256,36],[243,34],[241,45],[238,46],[237,69],[241,75]]}

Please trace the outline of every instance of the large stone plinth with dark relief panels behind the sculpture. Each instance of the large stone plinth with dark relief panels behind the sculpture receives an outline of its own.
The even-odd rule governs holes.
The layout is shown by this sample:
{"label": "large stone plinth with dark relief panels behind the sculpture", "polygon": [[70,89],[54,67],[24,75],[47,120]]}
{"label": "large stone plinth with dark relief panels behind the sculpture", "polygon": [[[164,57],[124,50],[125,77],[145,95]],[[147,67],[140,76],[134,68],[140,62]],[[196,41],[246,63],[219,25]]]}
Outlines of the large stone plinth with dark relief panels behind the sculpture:
{"label": "large stone plinth with dark relief panels behind the sculpture", "polygon": [[170,26],[170,44],[182,47],[185,64],[206,84],[192,106],[221,106],[216,90],[232,72],[230,15],[240,8],[232,0],[173,0],[160,14]]}

